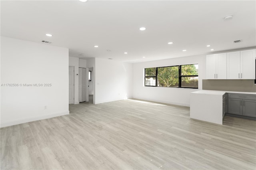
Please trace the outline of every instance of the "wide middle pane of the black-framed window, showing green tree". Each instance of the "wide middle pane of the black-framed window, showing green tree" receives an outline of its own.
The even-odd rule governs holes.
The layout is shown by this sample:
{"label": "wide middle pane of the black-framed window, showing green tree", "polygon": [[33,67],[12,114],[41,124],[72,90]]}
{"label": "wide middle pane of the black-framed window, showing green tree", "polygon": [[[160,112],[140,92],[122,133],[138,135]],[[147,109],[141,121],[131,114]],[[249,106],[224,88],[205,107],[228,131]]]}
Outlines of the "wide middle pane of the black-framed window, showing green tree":
{"label": "wide middle pane of the black-framed window, showing green tree", "polygon": [[179,66],[158,68],[159,87],[179,87]]}

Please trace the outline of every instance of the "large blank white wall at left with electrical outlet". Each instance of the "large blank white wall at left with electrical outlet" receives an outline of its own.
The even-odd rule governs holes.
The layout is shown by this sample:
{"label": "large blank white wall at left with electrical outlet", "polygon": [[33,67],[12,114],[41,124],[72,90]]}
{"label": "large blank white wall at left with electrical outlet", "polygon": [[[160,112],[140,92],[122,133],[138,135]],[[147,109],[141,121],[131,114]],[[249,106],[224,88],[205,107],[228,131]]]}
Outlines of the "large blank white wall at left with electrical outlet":
{"label": "large blank white wall at left with electrical outlet", "polygon": [[1,37],[1,83],[1,127],[69,114],[68,49]]}

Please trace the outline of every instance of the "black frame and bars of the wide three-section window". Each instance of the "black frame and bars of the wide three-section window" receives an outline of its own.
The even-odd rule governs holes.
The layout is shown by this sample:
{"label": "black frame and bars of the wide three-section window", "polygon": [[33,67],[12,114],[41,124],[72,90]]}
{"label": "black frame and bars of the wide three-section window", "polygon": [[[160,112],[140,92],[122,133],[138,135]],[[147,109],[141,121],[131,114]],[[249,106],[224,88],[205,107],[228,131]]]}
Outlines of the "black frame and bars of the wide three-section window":
{"label": "black frame and bars of the wide three-section window", "polygon": [[[198,64],[198,63],[195,63]],[[194,64],[184,64],[184,65],[194,65]],[[182,65],[172,65],[172,66],[164,66],[164,67],[179,67],[179,83],[178,87],[171,87],[171,88],[184,88],[184,89],[198,89],[198,87],[182,87],[182,77],[198,77],[198,75],[182,75]],[[163,68],[163,67],[150,67],[150,68],[156,68],[156,76],[146,76],[146,69],[144,69],[144,86],[145,87],[163,87],[163,86],[158,86],[158,68]],[[154,86],[152,85],[146,85],[146,78],[148,77],[155,77],[156,78],[156,84]]]}

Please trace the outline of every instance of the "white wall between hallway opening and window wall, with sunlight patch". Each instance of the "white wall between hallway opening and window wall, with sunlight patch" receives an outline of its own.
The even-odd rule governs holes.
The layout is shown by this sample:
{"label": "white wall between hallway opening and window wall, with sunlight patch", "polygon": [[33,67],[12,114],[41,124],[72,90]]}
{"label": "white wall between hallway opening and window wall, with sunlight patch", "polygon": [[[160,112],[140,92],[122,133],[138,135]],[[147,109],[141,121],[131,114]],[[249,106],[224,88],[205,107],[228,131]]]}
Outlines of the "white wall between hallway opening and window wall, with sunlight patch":
{"label": "white wall between hallway opening and window wall, with sunlight patch", "polygon": [[132,64],[95,59],[95,104],[132,97]]}

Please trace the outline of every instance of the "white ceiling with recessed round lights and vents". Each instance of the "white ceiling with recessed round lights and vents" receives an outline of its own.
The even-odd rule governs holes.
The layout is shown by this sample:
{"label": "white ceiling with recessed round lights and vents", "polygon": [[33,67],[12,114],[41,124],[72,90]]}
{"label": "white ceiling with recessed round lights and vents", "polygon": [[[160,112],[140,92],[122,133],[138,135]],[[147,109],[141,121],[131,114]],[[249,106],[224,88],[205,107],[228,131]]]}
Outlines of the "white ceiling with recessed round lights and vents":
{"label": "white ceiling with recessed round lights and vents", "polygon": [[[256,1],[0,3],[1,36],[50,41],[49,45],[69,48],[72,57],[133,63],[207,54],[212,48],[216,53],[256,46]],[[234,18],[224,21],[227,15]],[[145,31],[139,30],[142,26]],[[241,39],[242,43],[234,44]]]}

